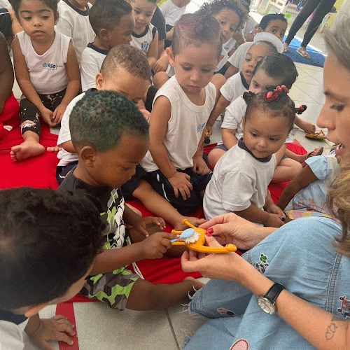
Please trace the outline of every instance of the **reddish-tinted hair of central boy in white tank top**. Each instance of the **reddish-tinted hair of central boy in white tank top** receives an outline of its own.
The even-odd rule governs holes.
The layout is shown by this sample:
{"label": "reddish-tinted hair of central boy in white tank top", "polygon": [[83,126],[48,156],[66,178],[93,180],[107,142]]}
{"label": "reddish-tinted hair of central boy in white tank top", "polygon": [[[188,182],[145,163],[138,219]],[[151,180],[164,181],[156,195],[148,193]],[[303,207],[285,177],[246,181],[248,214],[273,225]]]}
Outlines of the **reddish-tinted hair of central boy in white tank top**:
{"label": "reddish-tinted hair of central boy in white tank top", "polygon": [[186,13],[174,27],[172,52],[174,56],[188,45],[200,46],[204,43],[213,45],[220,57],[222,50],[221,29],[218,21],[207,10]]}

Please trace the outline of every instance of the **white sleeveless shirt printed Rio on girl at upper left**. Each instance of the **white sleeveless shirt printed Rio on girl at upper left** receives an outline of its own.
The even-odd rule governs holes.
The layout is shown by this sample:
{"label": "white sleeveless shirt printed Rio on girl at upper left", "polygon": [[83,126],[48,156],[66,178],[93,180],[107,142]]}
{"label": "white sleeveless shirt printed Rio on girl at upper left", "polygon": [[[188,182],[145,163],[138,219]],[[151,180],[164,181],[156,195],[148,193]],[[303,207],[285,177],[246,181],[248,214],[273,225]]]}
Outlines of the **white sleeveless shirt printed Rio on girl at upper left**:
{"label": "white sleeveless shirt printed Rio on girl at upper left", "polygon": [[56,94],[64,90],[68,84],[64,64],[71,38],[56,31],[51,47],[43,55],[38,55],[25,31],[18,33],[17,37],[34,90],[38,94]]}

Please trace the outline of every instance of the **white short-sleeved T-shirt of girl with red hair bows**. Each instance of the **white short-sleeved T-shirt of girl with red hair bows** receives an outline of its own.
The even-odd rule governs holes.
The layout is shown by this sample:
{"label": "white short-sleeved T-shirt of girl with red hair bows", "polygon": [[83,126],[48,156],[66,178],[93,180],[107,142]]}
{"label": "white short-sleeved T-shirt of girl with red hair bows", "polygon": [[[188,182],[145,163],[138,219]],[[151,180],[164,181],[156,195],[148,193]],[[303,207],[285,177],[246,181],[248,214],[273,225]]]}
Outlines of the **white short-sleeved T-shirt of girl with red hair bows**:
{"label": "white short-sleeved T-shirt of girl with red hair bows", "polygon": [[251,204],[264,210],[267,186],[276,167],[274,155],[255,158],[242,140],[216,163],[204,193],[203,209],[207,220],[215,216],[248,209]]}

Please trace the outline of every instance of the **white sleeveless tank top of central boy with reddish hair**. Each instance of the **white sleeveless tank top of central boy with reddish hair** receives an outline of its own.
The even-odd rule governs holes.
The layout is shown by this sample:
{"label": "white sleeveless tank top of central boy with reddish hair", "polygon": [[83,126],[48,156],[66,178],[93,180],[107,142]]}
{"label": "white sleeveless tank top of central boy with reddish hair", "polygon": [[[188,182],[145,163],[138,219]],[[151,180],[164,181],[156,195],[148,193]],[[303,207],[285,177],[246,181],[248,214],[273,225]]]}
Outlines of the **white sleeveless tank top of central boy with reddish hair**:
{"label": "white sleeveless tank top of central boy with reddish hair", "polygon": [[[167,149],[169,160],[176,169],[184,170],[193,167],[193,156],[197,151],[209,115],[214,108],[216,97],[214,85],[209,83],[204,89],[205,102],[202,106],[197,106],[190,101],[176,80],[176,76],[170,78],[155,94],[154,102],[158,97],[165,96],[172,105],[172,114],[168,121],[163,144]],[[141,160],[141,166],[146,172],[159,169],[150,151]]]}

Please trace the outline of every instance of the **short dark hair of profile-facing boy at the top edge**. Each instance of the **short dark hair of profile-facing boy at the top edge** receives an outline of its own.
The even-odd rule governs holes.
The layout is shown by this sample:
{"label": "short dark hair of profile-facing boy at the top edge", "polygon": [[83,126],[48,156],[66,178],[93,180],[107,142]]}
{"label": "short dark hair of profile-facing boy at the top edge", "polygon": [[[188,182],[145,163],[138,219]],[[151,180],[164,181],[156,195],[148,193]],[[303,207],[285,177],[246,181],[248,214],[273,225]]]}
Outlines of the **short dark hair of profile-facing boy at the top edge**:
{"label": "short dark hair of profile-facing boy at the top edge", "polygon": [[124,15],[132,13],[132,6],[125,0],[96,0],[90,9],[89,21],[94,33],[101,29],[113,30]]}

